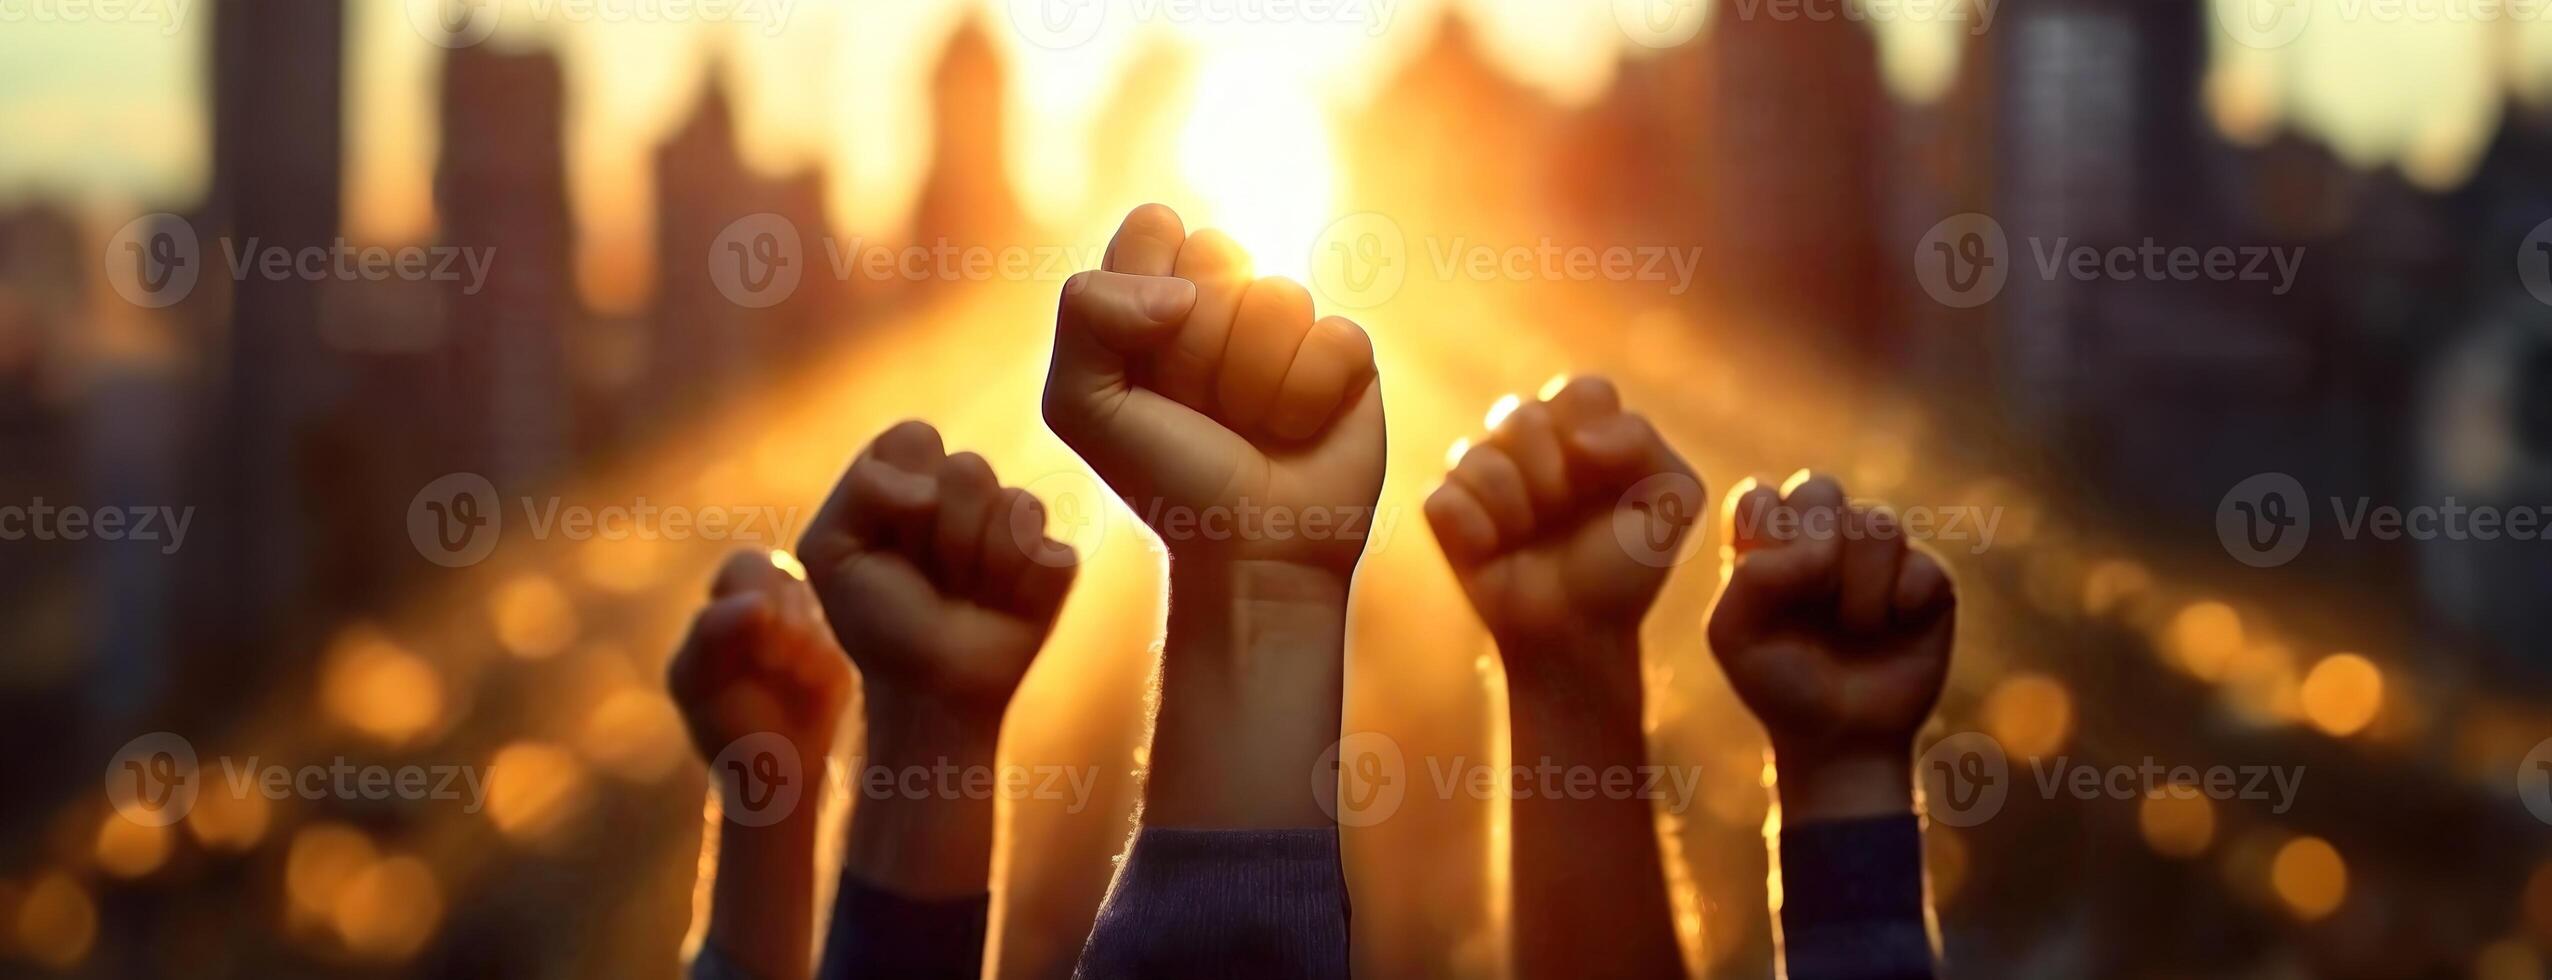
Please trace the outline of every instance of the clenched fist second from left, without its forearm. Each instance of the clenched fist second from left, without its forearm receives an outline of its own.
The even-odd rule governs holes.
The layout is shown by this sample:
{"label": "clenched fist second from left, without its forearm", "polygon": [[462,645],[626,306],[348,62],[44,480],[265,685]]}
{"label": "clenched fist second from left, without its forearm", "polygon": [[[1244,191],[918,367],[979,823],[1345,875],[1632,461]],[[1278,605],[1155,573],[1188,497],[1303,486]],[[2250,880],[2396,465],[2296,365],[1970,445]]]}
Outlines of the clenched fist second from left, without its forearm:
{"label": "clenched fist second from left, without its forearm", "polygon": [[1046,508],[972,452],[903,421],[835,485],[799,541],[817,600],[860,666],[870,712],[926,699],[1000,712],[1054,630],[1079,556],[1046,538]]}

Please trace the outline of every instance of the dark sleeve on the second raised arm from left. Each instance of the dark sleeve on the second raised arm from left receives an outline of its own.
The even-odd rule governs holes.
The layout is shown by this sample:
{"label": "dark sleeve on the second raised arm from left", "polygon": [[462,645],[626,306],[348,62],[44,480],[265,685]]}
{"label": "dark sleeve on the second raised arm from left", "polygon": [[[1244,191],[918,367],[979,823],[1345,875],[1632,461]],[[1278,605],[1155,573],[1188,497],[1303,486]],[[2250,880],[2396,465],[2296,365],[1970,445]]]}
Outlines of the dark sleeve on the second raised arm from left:
{"label": "dark sleeve on the second raised arm from left", "polygon": [[980,980],[990,909],[993,896],[903,898],[842,870],[817,977]]}

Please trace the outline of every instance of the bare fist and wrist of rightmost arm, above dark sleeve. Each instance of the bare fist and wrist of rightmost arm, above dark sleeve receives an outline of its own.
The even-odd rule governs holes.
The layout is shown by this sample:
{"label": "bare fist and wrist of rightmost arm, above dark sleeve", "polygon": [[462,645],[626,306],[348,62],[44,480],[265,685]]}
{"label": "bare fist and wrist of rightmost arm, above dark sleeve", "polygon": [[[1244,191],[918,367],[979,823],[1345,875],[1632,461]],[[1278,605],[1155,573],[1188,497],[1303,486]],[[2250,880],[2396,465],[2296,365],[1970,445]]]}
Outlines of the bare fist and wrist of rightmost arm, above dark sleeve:
{"label": "bare fist and wrist of rightmost arm, above dark sleeve", "polygon": [[1822,475],[1748,490],[1730,523],[1710,651],[1771,738],[1784,819],[1911,812],[1914,732],[1957,628],[1947,569]]}

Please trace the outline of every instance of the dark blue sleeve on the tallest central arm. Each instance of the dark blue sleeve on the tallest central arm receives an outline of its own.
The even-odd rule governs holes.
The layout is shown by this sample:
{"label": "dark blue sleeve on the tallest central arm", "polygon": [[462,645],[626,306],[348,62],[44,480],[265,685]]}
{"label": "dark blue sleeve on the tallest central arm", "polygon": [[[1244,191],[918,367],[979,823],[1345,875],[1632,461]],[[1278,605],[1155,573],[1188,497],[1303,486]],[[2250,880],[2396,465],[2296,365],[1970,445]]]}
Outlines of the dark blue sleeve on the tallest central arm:
{"label": "dark blue sleeve on the tallest central arm", "polygon": [[1143,827],[1077,977],[1347,977],[1337,827]]}

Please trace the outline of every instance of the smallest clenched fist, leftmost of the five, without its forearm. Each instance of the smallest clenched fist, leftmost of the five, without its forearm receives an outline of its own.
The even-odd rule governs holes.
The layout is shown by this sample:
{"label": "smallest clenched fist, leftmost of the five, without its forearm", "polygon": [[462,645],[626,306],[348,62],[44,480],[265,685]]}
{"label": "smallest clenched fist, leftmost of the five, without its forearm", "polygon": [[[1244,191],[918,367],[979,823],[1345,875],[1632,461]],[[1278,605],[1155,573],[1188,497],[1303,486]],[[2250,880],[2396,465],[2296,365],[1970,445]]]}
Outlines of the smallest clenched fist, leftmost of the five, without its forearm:
{"label": "smallest clenched fist, leftmost of the five, without its forearm", "polygon": [[674,653],[666,687],[699,758],[758,732],[786,738],[799,758],[824,758],[850,697],[850,661],[806,582],[768,551],[738,551]]}

